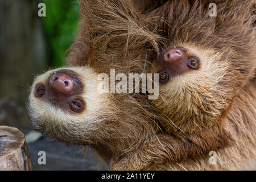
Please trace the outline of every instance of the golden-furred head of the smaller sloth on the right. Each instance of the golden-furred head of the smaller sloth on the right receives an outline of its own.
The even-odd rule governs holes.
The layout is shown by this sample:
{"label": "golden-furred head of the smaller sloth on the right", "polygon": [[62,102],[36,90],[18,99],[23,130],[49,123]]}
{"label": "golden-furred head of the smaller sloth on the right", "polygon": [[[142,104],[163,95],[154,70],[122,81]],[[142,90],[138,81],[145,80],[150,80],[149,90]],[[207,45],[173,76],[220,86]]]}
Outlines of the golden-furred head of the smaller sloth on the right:
{"label": "golden-furred head of the smaller sloth on the right", "polygon": [[152,102],[167,116],[163,125],[168,131],[192,133],[220,118],[234,92],[229,68],[221,53],[191,45],[159,55],[152,72],[159,73],[160,97]]}

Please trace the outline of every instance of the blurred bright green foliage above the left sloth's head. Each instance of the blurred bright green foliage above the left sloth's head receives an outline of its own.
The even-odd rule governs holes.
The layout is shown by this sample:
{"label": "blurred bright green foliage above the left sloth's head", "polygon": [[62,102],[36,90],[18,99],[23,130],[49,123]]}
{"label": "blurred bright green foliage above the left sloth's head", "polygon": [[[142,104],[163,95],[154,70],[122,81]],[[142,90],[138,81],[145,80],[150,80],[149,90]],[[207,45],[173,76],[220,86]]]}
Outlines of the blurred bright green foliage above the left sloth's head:
{"label": "blurred bright green foliage above the left sloth's head", "polygon": [[46,4],[44,31],[50,52],[49,65],[61,67],[65,51],[71,46],[79,22],[77,0],[39,0]]}

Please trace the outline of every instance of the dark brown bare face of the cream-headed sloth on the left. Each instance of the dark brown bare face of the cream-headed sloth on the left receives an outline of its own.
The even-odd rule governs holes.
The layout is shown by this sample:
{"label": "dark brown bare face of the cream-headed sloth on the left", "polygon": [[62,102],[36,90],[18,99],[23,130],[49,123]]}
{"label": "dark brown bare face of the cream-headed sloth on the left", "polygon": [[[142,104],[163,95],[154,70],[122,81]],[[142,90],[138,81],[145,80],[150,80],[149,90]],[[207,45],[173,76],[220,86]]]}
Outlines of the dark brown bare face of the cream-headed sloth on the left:
{"label": "dark brown bare face of the cream-headed sloth on the left", "polygon": [[84,85],[79,76],[70,69],[54,71],[47,81],[38,82],[34,88],[34,97],[70,113],[81,113],[85,109],[81,98]]}

